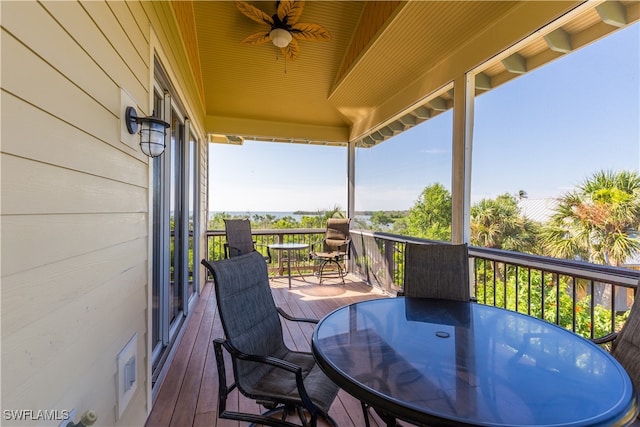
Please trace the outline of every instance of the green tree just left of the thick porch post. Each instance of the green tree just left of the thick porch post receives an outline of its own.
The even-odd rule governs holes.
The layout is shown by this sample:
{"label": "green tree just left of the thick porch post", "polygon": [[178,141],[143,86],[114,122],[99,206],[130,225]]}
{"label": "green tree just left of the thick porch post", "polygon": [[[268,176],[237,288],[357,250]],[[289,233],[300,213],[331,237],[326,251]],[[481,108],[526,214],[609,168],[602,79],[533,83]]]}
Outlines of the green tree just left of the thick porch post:
{"label": "green tree just left of the thick porch post", "polygon": [[422,190],[409,210],[406,234],[433,240],[451,240],[451,193],[440,183]]}

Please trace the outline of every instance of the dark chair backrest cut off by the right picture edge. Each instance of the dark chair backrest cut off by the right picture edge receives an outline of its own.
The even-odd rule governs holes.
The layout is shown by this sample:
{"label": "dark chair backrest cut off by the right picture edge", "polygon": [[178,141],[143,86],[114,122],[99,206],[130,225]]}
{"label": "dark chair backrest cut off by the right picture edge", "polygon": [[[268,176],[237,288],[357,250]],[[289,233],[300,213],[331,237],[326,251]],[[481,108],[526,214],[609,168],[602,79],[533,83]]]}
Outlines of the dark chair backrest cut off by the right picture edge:
{"label": "dark chair backrest cut off by the right picture edge", "polygon": [[640,293],[636,293],[629,317],[612,345],[611,354],[625,368],[640,393]]}

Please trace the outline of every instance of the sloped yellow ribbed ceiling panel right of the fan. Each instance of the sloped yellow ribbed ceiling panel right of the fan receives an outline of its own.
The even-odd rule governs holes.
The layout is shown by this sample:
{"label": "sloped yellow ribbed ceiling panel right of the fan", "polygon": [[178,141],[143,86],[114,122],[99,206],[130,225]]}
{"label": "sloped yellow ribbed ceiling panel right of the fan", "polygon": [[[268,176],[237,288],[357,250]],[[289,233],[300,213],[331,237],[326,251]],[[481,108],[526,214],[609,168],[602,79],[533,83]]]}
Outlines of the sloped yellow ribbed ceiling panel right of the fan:
{"label": "sloped yellow ribbed ceiling panel right of the fan", "polygon": [[409,2],[330,95],[352,122],[452,55],[518,2]]}

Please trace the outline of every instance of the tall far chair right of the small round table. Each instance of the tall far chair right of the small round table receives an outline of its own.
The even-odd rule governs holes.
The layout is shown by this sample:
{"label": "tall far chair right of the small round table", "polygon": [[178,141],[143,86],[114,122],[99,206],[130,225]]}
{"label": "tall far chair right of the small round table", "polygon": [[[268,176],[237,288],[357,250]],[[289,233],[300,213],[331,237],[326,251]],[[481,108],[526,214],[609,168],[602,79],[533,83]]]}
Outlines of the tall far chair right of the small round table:
{"label": "tall far chair right of the small round table", "polygon": [[[351,246],[351,238],[349,236],[350,218],[329,218],[327,220],[327,231],[321,242],[311,245],[309,258],[318,260],[318,276],[322,285],[324,270],[329,264],[334,264],[338,270],[338,276],[344,285],[345,269],[342,263],[345,258],[349,257],[349,249]],[[318,248],[318,249],[316,249]]]}

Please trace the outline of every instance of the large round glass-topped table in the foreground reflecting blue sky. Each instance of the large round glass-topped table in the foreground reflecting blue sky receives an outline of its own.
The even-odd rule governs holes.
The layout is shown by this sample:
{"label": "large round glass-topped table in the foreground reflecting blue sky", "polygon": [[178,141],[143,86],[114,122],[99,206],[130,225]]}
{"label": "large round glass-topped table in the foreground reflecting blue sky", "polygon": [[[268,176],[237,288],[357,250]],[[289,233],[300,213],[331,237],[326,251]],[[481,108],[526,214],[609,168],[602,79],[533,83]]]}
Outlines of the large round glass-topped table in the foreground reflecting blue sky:
{"label": "large round glass-topped table in the foreground reflecting blue sky", "polygon": [[602,348],[487,305],[359,302],[325,316],[312,348],[327,376],[389,425],[614,426],[638,414],[629,376]]}

